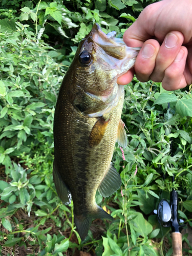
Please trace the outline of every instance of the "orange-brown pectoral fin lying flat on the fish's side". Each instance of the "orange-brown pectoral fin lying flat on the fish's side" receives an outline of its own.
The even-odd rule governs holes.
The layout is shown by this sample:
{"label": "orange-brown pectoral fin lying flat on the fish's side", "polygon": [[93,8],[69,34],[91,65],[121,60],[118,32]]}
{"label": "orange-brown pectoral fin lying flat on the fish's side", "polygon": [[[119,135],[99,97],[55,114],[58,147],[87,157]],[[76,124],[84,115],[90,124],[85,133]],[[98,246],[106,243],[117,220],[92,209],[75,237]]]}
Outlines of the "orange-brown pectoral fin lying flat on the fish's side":
{"label": "orange-brown pectoral fin lying flat on the fish's side", "polygon": [[93,129],[91,131],[91,134],[89,136],[89,145],[90,146],[97,146],[99,145],[100,141],[102,140],[104,136],[104,132],[106,127],[108,126],[110,119],[108,121],[105,121],[103,117],[100,117],[95,125],[93,126]]}

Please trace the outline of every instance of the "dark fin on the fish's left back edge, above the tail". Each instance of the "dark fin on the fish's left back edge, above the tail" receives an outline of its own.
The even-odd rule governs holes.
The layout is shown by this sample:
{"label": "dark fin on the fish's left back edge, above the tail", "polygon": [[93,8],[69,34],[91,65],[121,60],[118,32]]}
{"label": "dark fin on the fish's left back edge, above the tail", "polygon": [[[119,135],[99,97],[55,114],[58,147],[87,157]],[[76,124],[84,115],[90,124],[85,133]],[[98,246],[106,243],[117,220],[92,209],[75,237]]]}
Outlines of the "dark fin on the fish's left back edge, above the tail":
{"label": "dark fin on the fish's left back edge, above the tail", "polygon": [[62,180],[55,160],[53,162],[53,180],[55,183],[55,187],[57,190],[58,197],[62,201],[63,204],[70,204],[71,203],[71,193],[69,191],[69,188],[66,186],[65,182]]}

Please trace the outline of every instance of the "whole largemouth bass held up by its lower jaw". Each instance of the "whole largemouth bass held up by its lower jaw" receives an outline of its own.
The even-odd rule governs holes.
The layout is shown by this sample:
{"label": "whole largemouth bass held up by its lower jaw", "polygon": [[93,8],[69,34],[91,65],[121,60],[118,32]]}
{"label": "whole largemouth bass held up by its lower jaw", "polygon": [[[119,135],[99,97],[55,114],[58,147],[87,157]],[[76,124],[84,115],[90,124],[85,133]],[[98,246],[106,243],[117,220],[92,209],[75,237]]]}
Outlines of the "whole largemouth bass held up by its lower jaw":
{"label": "whole largemouth bass held up by its lower jaw", "polygon": [[79,43],[55,107],[53,179],[60,200],[73,200],[81,240],[92,220],[113,220],[96,204],[97,189],[109,197],[121,186],[111,163],[116,140],[122,147],[127,144],[121,120],[124,88],[117,78],[134,66],[139,48],[115,36],[94,24]]}

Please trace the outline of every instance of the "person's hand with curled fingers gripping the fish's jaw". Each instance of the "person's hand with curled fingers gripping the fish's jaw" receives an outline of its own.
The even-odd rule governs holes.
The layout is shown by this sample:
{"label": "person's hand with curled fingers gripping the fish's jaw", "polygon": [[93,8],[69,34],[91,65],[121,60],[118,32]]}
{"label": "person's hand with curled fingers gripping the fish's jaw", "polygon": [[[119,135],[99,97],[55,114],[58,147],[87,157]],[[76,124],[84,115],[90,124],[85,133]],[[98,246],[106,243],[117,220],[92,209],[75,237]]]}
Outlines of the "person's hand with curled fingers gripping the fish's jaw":
{"label": "person's hand with curled fingers gripping the fish's jaw", "polygon": [[125,31],[129,47],[142,47],[134,69],[118,78],[127,84],[134,73],[141,82],[162,82],[167,91],[192,83],[192,0],[163,0],[147,6]]}

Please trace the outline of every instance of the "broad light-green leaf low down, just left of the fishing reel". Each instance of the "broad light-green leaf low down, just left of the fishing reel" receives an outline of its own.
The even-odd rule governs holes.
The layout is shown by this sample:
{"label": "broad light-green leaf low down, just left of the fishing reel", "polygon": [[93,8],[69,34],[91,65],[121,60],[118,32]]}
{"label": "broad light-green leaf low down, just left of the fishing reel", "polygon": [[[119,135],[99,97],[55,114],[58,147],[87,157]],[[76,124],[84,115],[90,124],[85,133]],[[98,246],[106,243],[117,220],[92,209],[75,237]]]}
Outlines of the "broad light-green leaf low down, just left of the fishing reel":
{"label": "broad light-green leaf low down, just left of the fishing reel", "polygon": [[135,212],[137,217],[131,220],[133,229],[138,233],[138,236],[145,238],[147,234],[151,233],[153,226],[148,223],[140,212]]}

